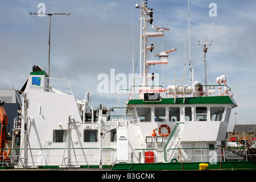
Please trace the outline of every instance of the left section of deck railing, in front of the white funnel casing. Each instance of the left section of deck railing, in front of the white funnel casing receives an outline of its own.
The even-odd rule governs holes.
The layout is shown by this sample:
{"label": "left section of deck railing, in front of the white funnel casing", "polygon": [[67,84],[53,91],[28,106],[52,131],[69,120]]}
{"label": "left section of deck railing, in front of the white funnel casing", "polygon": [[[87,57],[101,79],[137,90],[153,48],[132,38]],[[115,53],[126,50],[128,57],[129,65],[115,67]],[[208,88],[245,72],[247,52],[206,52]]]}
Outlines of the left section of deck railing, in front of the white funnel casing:
{"label": "left section of deck railing, in front of the white funnel casing", "polygon": [[[21,149],[13,148],[23,153]],[[29,148],[29,164],[28,167],[39,166],[67,166],[67,148]],[[114,163],[114,148],[103,147],[102,155],[99,148],[71,148],[74,155],[71,157],[71,164],[73,166],[99,166],[100,158],[102,158],[102,165],[110,166]],[[31,154],[33,156],[31,156]],[[1,157],[1,156],[0,156]],[[22,155],[9,156],[10,159],[17,158],[9,166],[13,165],[18,168],[24,167],[24,158]],[[5,162],[6,163],[6,162]],[[1,163],[0,163],[1,166]],[[5,165],[6,166],[6,165]]]}

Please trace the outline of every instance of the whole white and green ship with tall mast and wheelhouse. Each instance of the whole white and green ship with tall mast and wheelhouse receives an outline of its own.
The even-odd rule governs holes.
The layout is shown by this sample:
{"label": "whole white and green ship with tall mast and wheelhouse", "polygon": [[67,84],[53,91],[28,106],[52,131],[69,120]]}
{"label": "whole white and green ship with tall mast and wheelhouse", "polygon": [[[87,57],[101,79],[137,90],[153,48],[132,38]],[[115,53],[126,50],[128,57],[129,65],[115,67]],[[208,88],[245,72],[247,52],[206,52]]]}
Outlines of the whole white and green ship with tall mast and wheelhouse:
{"label": "whole white and green ship with tall mast and wheelhouse", "polygon": [[136,7],[141,11],[143,67],[141,85],[131,86],[126,105],[94,106],[93,94],[87,92],[77,100],[68,80],[35,68],[21,90],[21,126],[15,125],[13,135],[15,168],[127,169],[140,164],[143,169],[170,169],[162,165],[225,163],[226,130],[237,106],[226,77],[218,77],[216,85],[202,85],[191,70],[191,86],[148,85],[154,78],[150,67],[167,64],[176,49],[148,59],[150,39],[169,28],[148,27],[153,10],[147,1]]}

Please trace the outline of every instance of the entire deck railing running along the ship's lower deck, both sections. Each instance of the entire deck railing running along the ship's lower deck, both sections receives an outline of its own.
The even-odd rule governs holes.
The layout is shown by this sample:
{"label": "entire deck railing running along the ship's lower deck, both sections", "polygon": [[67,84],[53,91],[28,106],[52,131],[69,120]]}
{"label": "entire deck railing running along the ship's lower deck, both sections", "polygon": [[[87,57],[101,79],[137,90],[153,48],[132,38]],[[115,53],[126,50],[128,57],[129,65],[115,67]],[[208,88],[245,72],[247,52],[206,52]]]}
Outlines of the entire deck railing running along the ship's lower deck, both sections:
{"label": "entire deck railing running along the ship's lower deck, both sections", "polygon": [[[11,150],[11,154],[8,156],[8,160],[1,160],[0,166],[14,166],[17,168],[24,167],[24,158],[22,157],[22,149],[18,148],[4,148],[3,150]],[[67,150],[66,148],[29,148],[29,166],[39,167],[39,166],[62,166],[67,167]],[[78,166],[98,166],[100,152],[99,148],[71,148],[75,156],[71,159],[73,165]],[[129,159],[129,163],[138,163],[133,160],[135,158],[139,159],[139,163],[145,163],[146,158],[154,158],[154,163],[164,162],[162,155],[159,152],[162,150],[157,150],[155,148],[136,148],[134,150],[133,157]],[[145,151],[154,151],[154,156],[145,156]],[[195,155],[194,151],[197,151]],[[215,152],[211,152],[215,151]],[[243,160],[250,161],[255,154],[249,154],[247,148],[170,148],[168,151],[168,162],[193,162],[197,158],[197,162],[226,162],[229,160]],[[173,154],[174,155],[170,155]],[[31,154],[33,157],[31,158]],[[231,155],[230,155],[231,154]],[[102,164],[111,165],[116,159],[116,149],[111,147],[102,148]],[[171,156],[171,158],[170,158]],[[0,156],[2,157],[5,156]]]}

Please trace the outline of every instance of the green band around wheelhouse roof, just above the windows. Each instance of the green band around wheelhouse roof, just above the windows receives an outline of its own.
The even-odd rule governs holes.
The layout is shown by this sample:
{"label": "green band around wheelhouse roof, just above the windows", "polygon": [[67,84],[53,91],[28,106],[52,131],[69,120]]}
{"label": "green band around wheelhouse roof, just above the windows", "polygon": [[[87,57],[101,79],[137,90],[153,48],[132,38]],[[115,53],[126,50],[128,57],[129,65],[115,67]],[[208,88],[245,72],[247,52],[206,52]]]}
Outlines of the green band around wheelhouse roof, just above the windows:
{"label": "green band around wheelhouse roof, just above the windows", "polygon": [[[185,99],[185,102],[183,102]],[[143,100],[130,100],[129,104],[232,104],[237,106],[233,97],[210,96],[210,97],[186,97],[186,98],[161,98],[160,102],[144,102]]]}

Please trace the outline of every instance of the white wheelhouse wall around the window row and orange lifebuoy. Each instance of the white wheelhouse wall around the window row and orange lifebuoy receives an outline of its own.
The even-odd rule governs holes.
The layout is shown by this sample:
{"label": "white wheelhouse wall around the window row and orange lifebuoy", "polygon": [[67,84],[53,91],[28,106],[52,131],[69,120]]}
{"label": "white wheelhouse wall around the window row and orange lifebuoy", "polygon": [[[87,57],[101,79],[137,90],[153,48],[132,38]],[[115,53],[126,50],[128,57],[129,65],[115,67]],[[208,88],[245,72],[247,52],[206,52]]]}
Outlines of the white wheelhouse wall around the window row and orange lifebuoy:
{"label": "white wheelhouse wall around the window row and orange lifebuoy", "polygon": [[[192,110],[192,121],[185,121],[185,106],[191,107]],[[223,114],[222,121],[210,121],[210,107],[216,107],[214,104],[209,104],[207,105],[207,121],[196,121],[196,114],[195,114],[195,108],[197,106],[206,106],[202,104],[198,105],[180,105],[180,104],[175,104],[175,105],[134,105],[134,109],[130,112],[135,113],[135,115],[138,117],[136,108],[137,107],[150,107],[151,108],[151,121],[149,122],[140,122],[139,120],[137,123],[133,123],[129,125],[129,131],[131,129],[131,125],[133,125],[133,131],[137,133],[140,133],[143,141],[145,142],[146,136],[151,136],[153,133],[153,129],[157,129],[160,125],[165,124],[170,126],[171,131],[173,131],[175,124],[178,122],[171,122],[169,121],[169,113],[168,113],[168,108],[169,107],[179,107],[180,108],[180,114],[181,114],[181,119],[179,122],[181,122],[177,129],[175,130],[175,133],[173,137],[170,140],[170,143],[167,146],[167,150],[169,148],[208,148],[209,143],[213,143],[214,147],[219,147],[219,143],[221,143],[221,140],[225,139],[225,133],[227,129],[227,105],[218,105],[218,106],[223,106],[225,107],[225,113]],[[166,121],[165,122],[155,122],[154,121],[154,107],[165,107],[166,108]],[[230,111],[230,110],[229,110]],[[184,122],[184,123],[183,123]],[[133,132],[133,135],[135,135]],[[158,132],[155,130],[155,133]],[[169,137],[163,138],[163,143],[162,143],[162,148],[165,146],[167,139]],[[160,145],[158,145],[155,142],[155,138],[153,138],[153,143],[151,144],[146,144],[146,142],[143,144],[143,146],[135,146],[135,138],[130,138],[129,135],[129,140],[131,149],[132,151],[134,148],[140,147],[140,148],[147,148],[148,150],[154,151],[155,157],[158,156],[158,159],[155,160],[155,162],[165,162],[164,156],[163,156],[163,150],[161,150]],[[218,143],[218,144],[217,144]],[[138,149],[138,148],[137,148]],[[158,152],[155,151],[157,149]],[[183,153],[183,160],[184,161],[207,161],[207,156],[203,156],[202,154],[207,154],[209,153],[209,150],[206,149],[195,149],[195,150],[182,150]],[[171,155],[172,158],[178,154],[177,150],[173,152],[172,150],[168,151],[168,157],[170,160]],[[144,153],[143,153],[144,154]],[[195,157],[192,155],[198,155],[199,157]]]}

